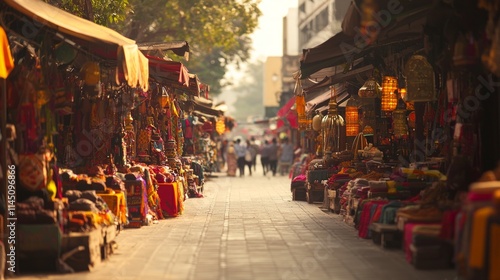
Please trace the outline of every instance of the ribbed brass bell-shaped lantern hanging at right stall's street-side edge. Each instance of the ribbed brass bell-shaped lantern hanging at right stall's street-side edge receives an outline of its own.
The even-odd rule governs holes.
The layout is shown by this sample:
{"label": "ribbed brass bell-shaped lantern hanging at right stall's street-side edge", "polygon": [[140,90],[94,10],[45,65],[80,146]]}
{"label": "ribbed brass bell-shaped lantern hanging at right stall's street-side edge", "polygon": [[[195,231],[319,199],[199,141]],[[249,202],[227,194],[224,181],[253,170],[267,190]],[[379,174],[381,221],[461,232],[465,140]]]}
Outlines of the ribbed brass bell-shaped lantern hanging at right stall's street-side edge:
{"label": "ribbed brass bell-shaped lantern hanging at right stall's street-side edge", "polygon": [[[328,155],[333,152],[339,152],[339,136],[340,127],[344,125],[344,119],[337,113],[337,101],[334,92],[334,87],[330,87],[331,97],[328,108],[328,115],[323,117],[321,121],[321,129],[323,132],[323,154]],[[333,94],[332,94],[333,92]]]}

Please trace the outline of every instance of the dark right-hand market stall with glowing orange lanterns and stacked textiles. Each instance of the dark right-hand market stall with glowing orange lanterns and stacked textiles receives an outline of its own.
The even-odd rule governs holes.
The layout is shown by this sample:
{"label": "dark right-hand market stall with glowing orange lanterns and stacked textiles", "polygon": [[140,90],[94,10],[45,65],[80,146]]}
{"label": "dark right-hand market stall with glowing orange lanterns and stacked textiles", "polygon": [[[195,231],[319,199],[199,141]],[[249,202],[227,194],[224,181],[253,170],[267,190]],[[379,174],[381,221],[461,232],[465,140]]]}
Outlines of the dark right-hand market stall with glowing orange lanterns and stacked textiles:
{"label": "dark right-hand market stall with glowing orange lanterns and stacked textiles", "polygon": [[302,143],[314,158],[299,175],[307,199],[360,238],[403,248],[417,269],[455,265],[465,279],[495,279],[498,259],[485,248],[498,247],[500,122],[490,94],[498,86],[486,77],[498,79],[498,7],[406,1],[362,48],[346,49],[356,28],[368,28],[364,2],[353,1],[343,30],[301,59],[296,94],[306,104],[297,112],[306,111]]}

